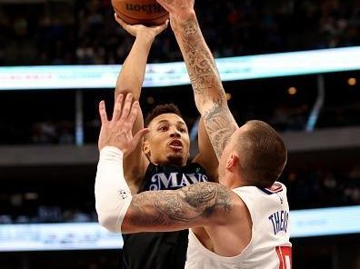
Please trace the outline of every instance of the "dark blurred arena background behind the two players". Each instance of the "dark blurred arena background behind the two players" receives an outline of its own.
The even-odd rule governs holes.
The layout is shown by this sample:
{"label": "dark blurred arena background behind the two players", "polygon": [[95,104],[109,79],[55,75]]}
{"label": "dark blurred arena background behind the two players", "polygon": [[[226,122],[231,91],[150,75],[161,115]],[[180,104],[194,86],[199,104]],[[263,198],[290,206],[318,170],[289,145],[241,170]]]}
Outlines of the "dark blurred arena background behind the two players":
{"label": "dark blurred arena background behind the two players", "polygon": [[[325,65],[350,65],[360,56],[360,1],[195,0],[195,10],[216,58],[345,47],[354,50],[344,61],[341,55],[336,62],[337,50],[330,50]],[[65,224],[80,225],[82,232],[86,224],[96,225],[97,104],[111,104],[114,87],[35,88],[28,82],[26,89],[26,80],[41,80],[41,71],[38,77],[26,76],[30,69],[17,75],[12,66],[120,68],[133,40],[115,24],[108,0],[0,0],[1,269],[121,268],[119,236],[111,237],[119,244],[114,247],[96,242],[103,236],[98,230],[97,237],[90,232],[81,239],[76,230],[61,234]],[[149,62],[175,61],[181,55],[167,30],[155,40]],[[314,56],[307,61],[318,64]],[[354,66],[224,83],[239,124],[261,119],[283,135],[289,161],[281,181],[291,210],[310,214],[335,207],[339,213],[328,216],[336,215],[336,227],[350,227],[311,235],[312,225],[328,220],[297,222],[310,232],[292,238],[294,268],[360,268],[360,66]],[[20,80],[21,89],[12,87]],[[154,105],[175,102],[191,129],[198,115],[190,85],[150,82],[141,97],[145,114]],[[51,226],[54,234],[42,242],[39,224],[60,226]]]}

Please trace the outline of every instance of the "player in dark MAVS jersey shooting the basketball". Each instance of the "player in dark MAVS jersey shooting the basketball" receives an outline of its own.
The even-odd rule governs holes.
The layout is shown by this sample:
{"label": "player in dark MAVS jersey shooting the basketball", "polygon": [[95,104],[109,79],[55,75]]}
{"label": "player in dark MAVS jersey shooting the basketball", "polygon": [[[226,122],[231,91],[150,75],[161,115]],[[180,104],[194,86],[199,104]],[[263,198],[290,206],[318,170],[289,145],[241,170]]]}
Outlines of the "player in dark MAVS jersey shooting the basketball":
{"label": "player in dark MAVS jersey shooting the basketball", "polygon": [[[145,27],[126,25],[115,15],[116,21],[131,35],[135,43],[118,76],[115,99],[131,94],[139,100],[145,77],[145,65],[155,36],[165,25]],[[190,139],[185,121],[175,105],[155,107],[144,119],[140,112],[133,134],[150,129],[143,143],[132,154],[125,155],[124,172],[133,194],[144,191],[175,190],[189,184],[217,179],[218,161],[205,131],[203,119],[198,129],[199,153],[187,164]],[[206,171],[206,174],[205,174]],[[124,267],[127,269],[184,268],[188,231],[171,233],[126,234],[124,236]]]}

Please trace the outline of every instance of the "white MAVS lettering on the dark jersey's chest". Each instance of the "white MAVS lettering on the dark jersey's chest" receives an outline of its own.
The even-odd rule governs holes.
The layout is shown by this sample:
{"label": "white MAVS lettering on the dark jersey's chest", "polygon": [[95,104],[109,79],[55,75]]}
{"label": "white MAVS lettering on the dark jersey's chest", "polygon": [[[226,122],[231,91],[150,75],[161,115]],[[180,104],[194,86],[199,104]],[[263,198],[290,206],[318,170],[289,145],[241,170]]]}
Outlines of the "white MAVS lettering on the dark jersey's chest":
{"label": "white MAVS lettering on the dark jersey's chest", "polygon": [[151,177],[151,184],[149,186],[150,191],[166,190],[166,189],[178,189],[190,184],[196,184],[200,182],[207,182],[206,174],[192,173],[170,173],[166,176],[165,173],[153,174]]}

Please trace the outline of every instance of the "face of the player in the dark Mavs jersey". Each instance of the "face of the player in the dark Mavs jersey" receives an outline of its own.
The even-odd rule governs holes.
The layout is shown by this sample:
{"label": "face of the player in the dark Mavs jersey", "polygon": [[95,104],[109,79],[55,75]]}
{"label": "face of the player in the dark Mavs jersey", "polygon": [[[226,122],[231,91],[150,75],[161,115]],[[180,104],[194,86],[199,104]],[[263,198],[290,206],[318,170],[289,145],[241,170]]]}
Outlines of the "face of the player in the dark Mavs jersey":
{"label": "face of the player in the dark Mavs jersey", "polygon": [[148,126],[144,152],[154,164],[185,165],[190,137],[184,120],[175,114],[156,116]]}

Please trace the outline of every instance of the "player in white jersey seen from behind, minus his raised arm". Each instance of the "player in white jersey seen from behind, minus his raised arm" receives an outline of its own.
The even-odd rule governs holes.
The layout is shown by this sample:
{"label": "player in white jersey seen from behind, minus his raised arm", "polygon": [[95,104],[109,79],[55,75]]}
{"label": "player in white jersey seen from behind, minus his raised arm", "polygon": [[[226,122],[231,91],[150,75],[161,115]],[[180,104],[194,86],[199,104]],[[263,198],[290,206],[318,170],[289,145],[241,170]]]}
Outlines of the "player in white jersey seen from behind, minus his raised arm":
{"label": "player in white jersey seen from behind, minus his raised arm", "polygon": [[132,195],[123,156],[148,129],[133,137],[139,105],[119,95],[108,121],[99,111],[100,160],[95,179],[99,222],[115,233],[166,232],[191,228],[187,269],[289,269],[289,206],[284,184],[275,182],[286,162],[285,144],[261,121],[237,128],[221,154],[219,182]]}

